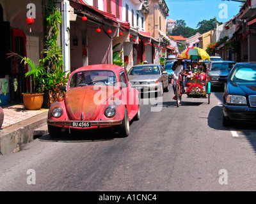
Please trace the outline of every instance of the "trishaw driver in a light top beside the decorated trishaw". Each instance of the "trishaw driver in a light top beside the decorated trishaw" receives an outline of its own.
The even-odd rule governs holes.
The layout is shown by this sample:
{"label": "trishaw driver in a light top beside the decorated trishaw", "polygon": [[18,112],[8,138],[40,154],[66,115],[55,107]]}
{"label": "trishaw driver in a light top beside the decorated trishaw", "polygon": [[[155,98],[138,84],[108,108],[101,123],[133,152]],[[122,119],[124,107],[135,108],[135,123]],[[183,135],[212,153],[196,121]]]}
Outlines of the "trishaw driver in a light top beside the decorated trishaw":
{"label": "trishaw driver in a light top beside the decorated trishaw", "polygon": [[175,87],[176,84],[179,80],[179,75],[182,74],[184,72],[184,70],[187,68],[187,64],[185,62],[182,62],[183,57],[182,55],[178,55],[177,57],[177,61],[174,62],[173,66],[172,66],[172,70],[174,71],[173,73],[173,84],[172,84],[172,88],[173,88],[173,92],[174,92],[174,97],[173,99],[176,100],[176,91],[175,91]]}

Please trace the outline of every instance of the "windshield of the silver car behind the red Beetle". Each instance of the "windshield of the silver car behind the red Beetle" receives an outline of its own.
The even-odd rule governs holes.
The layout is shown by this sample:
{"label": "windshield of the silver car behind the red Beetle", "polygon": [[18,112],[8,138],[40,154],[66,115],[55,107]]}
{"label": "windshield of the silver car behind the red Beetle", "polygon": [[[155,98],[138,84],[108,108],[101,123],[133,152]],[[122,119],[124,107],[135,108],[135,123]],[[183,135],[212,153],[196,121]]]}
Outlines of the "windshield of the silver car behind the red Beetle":
{"label": "windshield of the silver car behind the red Beetle", "polygon": [[128,75],[159,75],[158,66],[134,66],[130,69]]}

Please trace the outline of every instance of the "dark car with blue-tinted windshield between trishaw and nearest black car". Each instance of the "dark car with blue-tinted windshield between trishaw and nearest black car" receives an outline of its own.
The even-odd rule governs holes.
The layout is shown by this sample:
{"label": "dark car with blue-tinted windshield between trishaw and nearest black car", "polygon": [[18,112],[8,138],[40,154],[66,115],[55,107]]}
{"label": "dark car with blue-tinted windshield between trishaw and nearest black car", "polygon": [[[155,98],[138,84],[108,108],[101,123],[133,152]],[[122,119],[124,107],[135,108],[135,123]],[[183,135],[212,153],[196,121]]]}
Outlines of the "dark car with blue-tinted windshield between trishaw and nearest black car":
{"label": "dark car with blue-tinted windshield between trishaw and nearest black car", "polygon": [[236,64],[234,61],[211,61],[209,64],[209,80],[212,87],[221,87],[227,82],[230,70]]}

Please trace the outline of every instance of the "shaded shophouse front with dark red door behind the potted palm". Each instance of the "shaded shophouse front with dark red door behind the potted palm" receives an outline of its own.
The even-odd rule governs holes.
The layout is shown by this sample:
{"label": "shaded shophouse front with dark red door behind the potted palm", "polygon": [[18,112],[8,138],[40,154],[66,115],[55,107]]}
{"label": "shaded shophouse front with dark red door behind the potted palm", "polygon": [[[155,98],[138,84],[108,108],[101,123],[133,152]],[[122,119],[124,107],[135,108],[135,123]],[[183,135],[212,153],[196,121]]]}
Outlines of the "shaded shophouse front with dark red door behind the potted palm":
{"label": "shaded shophouse front with dark red door behind the potted palm", "polygon": [[[30,78],[25,78],[28,66],[20,64],[20,59],[8,57],[10,51],[19,55],[29,57],[35,62],[40,59],[40,52],[43,50],[43,15],[44,1],[35,0],[33,4],[28,1],[0,0],[0,24],[1,24],[1,71],[0,81],[4,78],[8,82],[6,96],[1,96],[1,105],[7,103],[22,102],[22,92],[31,92],[32,83]],[[60,6],[60,4],[56,5]],[[30,10],[30,11],[29,11]],[[29,13],[28,13],[29,12]],[[34,24],[28,25],[26,19],[33,15]],[[31,32],[30,32],[31,31]],[[13,79],[17,78],[18,89],[13,91]],[[0,94],[3,92],[0,91]]]}

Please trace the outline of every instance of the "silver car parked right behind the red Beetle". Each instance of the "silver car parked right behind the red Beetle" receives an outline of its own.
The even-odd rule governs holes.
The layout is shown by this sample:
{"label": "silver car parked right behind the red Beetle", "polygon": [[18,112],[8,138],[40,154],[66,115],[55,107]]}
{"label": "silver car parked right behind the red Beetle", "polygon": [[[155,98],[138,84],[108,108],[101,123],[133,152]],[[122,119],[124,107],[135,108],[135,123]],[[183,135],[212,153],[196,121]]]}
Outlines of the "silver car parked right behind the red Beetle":
{"label": "silver car parked right behind the red Beetle", "polygon": [[128,72],[131,87],[139,92],[157,93],[163,96],[163,92],[169,91],[168,73],[161,64],[140,64],[133,66]]}

